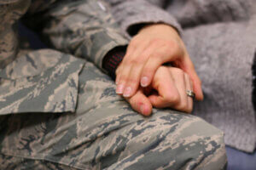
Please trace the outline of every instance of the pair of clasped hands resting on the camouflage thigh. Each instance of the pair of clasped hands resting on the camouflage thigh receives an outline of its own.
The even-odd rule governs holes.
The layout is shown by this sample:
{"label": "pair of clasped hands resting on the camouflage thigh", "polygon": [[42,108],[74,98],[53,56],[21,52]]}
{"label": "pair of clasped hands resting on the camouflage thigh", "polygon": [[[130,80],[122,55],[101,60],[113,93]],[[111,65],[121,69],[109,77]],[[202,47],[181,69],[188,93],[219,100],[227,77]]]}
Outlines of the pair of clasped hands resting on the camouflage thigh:
{"label": "pair of clasped hands resting on the camouflage thigh", "polygon": [[[161,66],[167,62],[175,67]],[[193,99],[188,90],[195,92],[196,99],[203,99],[201,81],[182,39],[172,26],[164,24],[146,26],[131,39],[116,70],[116,84],[116,93],[145,116],[153,106],[191,112]]]}

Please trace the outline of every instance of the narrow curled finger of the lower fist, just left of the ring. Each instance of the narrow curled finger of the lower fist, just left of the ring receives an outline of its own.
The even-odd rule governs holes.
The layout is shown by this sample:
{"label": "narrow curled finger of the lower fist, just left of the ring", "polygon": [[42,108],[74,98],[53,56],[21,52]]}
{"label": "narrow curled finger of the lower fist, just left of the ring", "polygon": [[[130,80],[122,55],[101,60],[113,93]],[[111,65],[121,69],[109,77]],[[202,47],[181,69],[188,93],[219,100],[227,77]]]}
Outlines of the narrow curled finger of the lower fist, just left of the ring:
{"label": "narrow curled finger of the lower fist, just left of the ring", "polygon": [[174,106],[174,109],[177,109],[178,111],[189,112],[188,96],[186,93],[187,90],[186,90],[184,72],[181,69],[178,69],[175,67],[170,67],[169,70],[172,73],[175,86],[180,95],[179,103]]}

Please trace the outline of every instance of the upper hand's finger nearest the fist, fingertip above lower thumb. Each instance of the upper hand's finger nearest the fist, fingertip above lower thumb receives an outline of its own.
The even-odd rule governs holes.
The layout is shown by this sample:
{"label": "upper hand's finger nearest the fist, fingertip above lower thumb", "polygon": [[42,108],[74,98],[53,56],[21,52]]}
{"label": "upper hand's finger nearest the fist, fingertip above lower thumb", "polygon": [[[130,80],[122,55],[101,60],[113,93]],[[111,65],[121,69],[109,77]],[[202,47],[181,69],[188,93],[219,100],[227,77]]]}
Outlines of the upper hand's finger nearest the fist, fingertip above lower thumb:
{"label": "upper hand's finger nearest the fist, fingertip above lower thumb", "polygon": [[[155,42],[157,43],[157,42]],[[147,63],[143,67],[141,86],[147,87],[153,80],[155,71],[160,65],[177,59],[183,52],[174,42],[159,42],[154,44],[154,52],[150,54]]]}

